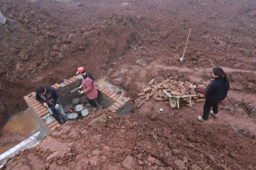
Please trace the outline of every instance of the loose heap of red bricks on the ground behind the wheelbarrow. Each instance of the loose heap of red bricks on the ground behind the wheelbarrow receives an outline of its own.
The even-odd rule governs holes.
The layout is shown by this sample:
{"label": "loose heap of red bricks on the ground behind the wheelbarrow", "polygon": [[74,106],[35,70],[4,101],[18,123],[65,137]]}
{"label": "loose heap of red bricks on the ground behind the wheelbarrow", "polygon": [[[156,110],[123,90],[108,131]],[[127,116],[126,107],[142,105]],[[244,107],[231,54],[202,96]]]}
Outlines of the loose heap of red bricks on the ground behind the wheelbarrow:
{"label": "loose heap of red bricks on the ground behind the wheelbarrow", "polygon": [[[170,93],[172,96],[181,96],[186,89],[189,88],[191,83],[188,81],[182,82],[172,80],[172,77],[167,78],[166,80],[160,77],[156,80],[150,80],[148,84],[150,87],[147,87],[143,89],[143,92],[138,93],[138,98],[134,102],[135,107],[140,108],[145,101],[150,100],[150,98],[153,98],[157,102],[162,101],[169,104],[169,98],[164,97],[163,90],[166,90],[166,92]],[[197,87],[205,88],[204,85],[198,85]],[[185,95],[196,95],[196,92],[194,89],[190,89],[185,93]],[[190,107],[189,98],[182,98],[180,102],[183,102]],[[191,102],[192,106],[195,105],[194,102],[205,102],[204,94],[200,94],[198,97],[193,97]]]}

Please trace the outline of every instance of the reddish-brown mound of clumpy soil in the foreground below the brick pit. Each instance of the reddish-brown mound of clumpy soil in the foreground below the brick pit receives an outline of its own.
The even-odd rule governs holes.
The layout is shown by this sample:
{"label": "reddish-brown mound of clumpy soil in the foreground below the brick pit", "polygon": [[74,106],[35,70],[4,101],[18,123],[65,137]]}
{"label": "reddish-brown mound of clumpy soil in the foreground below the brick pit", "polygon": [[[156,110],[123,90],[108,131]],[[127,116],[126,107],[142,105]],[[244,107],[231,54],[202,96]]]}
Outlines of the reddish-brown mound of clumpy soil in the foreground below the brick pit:
{"label": "reddish-brown mound of clumpy soil in the foreground below the brick pit", "polygon": [[66,123],[37,147],[9,159],[5,167],[253,169],[255,146],[253,135],[236,133],[225,125],[194,122],[178,113],[120,116],[102,110],[86,119]]}

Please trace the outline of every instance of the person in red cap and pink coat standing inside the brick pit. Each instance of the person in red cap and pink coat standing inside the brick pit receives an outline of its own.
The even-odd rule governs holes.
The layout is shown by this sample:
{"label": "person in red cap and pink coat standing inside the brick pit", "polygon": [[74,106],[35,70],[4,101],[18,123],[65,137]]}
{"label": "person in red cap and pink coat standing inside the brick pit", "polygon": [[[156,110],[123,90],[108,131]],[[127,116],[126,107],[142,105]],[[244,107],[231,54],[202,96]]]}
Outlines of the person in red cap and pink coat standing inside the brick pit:
{"label": "person in red cap and pink coat standing inside the brick pit", "polygon": [[86,106],[93,106],[93,111],[96,111],[98,109],[98,106],[94,99],[98,97],[98,91],[95,87],[94,79],[92,77],[92,74],[88,71],[85,71],[84,67],[79,67],[77,69],[76,74],[80,74],[83,76],[83,83],[81,84],[80,88],[83,87],[82,91],[79,91],[80,94],[85,94],[88,98],[89,104]]}

